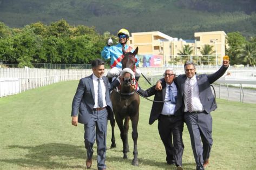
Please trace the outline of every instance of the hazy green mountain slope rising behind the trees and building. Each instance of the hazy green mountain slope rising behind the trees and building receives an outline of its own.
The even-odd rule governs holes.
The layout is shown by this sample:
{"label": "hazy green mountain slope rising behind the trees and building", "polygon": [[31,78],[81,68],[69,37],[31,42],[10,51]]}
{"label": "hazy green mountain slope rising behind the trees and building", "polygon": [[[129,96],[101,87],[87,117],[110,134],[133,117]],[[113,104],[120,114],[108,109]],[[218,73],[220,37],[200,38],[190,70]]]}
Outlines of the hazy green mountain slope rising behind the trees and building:
{"label": "hazy green mountain slope rising behind the trees and building", "polygon": [[161,31],[194,38],[194,32],[239,31],[256,36],[255,0],[0,0],[0,22],[10,27],[65,19],[70,25],[95,26],[99,33]]}

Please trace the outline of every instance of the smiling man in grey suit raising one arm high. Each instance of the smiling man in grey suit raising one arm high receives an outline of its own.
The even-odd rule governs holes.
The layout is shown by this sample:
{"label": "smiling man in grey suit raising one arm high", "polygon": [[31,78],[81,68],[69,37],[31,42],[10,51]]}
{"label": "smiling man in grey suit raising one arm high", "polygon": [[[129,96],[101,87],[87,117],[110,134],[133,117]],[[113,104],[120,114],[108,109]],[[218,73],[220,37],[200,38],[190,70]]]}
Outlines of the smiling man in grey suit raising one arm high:
{"label": "smiling man in grey suit raising one arm high", "polygon": [[[209,164],[213,144],[211,112],[217,106],[210,85],[225,73],[228,65],[229,61],[224,60],[215,73],[198,75],[194,63],[187,62],[185,74],[175,79],[183,98],[182,111],[191,137],[196,169],[204,169]],[[161,90],[160,81],[157,81],[156,89]]]}

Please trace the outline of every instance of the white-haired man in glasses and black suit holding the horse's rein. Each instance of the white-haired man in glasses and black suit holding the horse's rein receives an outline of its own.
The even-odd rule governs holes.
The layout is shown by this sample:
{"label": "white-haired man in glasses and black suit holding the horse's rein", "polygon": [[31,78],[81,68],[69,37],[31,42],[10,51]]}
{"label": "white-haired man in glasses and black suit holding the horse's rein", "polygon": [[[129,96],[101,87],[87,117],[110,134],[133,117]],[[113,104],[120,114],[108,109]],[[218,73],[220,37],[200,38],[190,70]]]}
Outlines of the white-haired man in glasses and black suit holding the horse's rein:
{"label": "white-haired man in glasses and black suit holding the horse's rein", "polygon": [[[173,82],[175,78],[173,71],[167,69],[164,76],[165,82],[162,83],[162,91],[155,90],[155,86],[150,87],[146,91],[139,89],[139,87],[136,90],[145,97],[155,95],[149,124],[152,125],[158,119],[158,131],[165,146],[167,164],[175,164],[177,169],[181,170],[183,169],[182,154],[184,148],[182,142],[182,98],[179,89],[176,88]],[[135,85],[132,85],[132,89],[135,89]]]}

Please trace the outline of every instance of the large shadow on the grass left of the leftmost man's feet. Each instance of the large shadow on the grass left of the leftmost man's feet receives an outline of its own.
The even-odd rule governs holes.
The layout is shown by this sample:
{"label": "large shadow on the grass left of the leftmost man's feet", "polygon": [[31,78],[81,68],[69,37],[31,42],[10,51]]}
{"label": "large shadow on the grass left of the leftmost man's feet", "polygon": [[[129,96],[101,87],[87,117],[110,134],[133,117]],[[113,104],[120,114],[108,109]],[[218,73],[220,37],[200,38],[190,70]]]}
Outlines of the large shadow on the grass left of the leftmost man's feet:
{"label": "large shadow on the grass left of the leftmost man's feet", "polygon": [[[16,164],[21,167],[44,167],[44,168],[84,168],[84,166],[71,166],[70,160],[86,158],[83,147],[69,144],[44,144],[38,146],[11,145],[9,149],[27,149],[28,154],[19,159],[0,159],[2,162]],[[56,159],[56,161],[54,160]],[[61,161],[60,161],[61,160]],[[68,160],[68,161],[65,161]]]}

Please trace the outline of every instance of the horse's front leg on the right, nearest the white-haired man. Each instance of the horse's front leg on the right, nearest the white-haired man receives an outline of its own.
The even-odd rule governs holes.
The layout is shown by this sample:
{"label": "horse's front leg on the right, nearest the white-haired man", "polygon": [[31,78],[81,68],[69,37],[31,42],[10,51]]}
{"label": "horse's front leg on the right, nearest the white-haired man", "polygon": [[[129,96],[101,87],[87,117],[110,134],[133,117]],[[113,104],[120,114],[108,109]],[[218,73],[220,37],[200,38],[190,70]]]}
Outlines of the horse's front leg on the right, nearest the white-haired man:
{"label": "horse's front leg on the right, nearest the white-haired man", "polygon": [[137,126],[138,126],[138,121],[139,121],[139,108],[137,110],[138,110],[138,112],[134,115],[134,117],[130,118],[130,120],[132,121],[132,127],[133,127],[133,132],[132,132],[132,137],[133,137],[133,161],[132,161],[132,165],[134,165],[134,166],[139,166],[138,151],[137,151],[137,139],[138,139]]}

